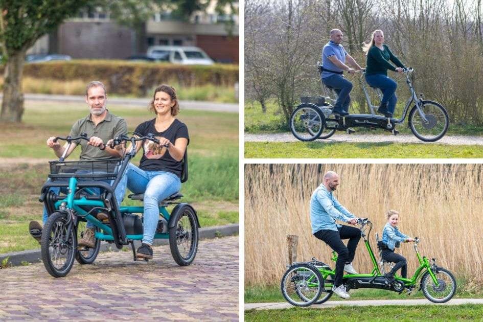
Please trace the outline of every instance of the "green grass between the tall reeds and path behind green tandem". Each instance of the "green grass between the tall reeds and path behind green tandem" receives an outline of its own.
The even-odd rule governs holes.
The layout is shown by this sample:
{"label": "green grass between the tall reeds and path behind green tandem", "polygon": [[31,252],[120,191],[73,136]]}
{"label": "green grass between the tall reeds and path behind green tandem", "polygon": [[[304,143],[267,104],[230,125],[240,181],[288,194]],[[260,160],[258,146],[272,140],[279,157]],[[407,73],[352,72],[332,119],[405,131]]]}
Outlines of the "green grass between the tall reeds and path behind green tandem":
{"label": "green grass between the tall reeds and path behind green tandem", "polygon": [[[465,279],[458,279],[456,282],[456,294],[454,298],[482,298],[483,291],[469,285]],[[380,289],[355,289],[350,290],[351,300],[405,300],[411,298],[426,298],[421,291],[415,289],[411,295],[398,294],[392,291]],[[340,301],[338,296],[332,296],[329,301]],[[280,303],[286,302],[282,296],[280,285],[273,286],[245,286],[245,303]]]}

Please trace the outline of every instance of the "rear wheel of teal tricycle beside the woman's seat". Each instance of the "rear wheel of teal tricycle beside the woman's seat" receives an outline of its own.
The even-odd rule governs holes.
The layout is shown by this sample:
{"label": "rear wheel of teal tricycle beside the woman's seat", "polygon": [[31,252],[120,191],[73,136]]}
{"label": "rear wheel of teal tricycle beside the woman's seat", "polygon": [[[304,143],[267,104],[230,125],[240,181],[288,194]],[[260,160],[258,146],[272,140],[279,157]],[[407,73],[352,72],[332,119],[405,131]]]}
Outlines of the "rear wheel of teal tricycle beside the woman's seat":
{"label": "rear wheel of teal tricycle beside the woman's seat", "polygon": [[183,206],[175,215],[174,227],[169,229],[169,248],[179,266],[190,265],[198,249],[198,223],[190,206]]}

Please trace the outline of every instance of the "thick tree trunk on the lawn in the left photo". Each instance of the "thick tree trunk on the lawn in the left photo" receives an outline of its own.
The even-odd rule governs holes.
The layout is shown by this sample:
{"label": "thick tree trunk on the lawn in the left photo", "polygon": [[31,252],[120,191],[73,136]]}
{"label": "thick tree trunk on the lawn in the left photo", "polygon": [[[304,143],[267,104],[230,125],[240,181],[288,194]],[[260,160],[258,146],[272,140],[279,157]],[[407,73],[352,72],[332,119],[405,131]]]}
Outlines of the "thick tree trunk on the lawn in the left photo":
{"label": "thick tree trunk on the lawn in the left photo", "polygon": [[18,123],[24,114],[22,74],[24,73],[25,50],[8,58],[4,73],[4,97],[0,122]]}

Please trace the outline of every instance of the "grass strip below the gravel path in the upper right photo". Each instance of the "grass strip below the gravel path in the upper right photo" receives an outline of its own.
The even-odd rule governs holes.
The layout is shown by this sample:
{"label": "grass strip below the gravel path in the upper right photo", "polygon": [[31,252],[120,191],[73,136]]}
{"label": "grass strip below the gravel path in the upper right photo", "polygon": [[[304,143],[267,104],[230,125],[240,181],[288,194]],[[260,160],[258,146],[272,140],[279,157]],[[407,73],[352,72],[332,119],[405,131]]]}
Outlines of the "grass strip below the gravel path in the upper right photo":
{"label": "grass strip below the gravel path in the upper right photo", "polygon": [[424,143],[245,142],[246,158],[480,158],[483,146]]}

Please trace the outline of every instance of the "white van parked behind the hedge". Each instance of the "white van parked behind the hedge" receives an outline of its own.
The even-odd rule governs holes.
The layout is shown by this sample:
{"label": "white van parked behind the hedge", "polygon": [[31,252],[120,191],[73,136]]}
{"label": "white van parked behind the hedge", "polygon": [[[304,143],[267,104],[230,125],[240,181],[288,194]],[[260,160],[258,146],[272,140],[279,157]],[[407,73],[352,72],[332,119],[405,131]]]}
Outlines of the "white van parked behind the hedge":
{"label": "white van parked behind the hedge", "polygon": [[198,47],[151,46],[147,55],[160,61],[182,65],[211,65],[213,60]]}

